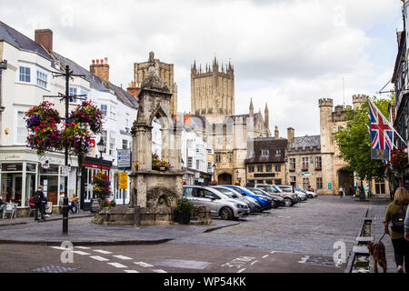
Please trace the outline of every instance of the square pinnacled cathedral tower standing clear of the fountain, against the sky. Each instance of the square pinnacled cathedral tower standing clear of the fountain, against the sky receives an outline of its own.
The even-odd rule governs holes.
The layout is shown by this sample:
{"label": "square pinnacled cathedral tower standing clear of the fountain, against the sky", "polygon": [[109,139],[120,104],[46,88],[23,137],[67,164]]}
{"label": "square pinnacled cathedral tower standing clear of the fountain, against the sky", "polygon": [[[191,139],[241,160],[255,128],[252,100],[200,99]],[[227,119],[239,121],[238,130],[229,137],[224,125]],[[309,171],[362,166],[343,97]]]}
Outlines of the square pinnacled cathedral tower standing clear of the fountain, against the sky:
{"label": "square pinnacled cathedral tower standing clear of the fountain, against the sky", "polygon": [[221,65],[214,57],[213,65],[191,69],[191,112],[205,115],[211,124],[223,122],[224,116],[234,115],[234,67]]}

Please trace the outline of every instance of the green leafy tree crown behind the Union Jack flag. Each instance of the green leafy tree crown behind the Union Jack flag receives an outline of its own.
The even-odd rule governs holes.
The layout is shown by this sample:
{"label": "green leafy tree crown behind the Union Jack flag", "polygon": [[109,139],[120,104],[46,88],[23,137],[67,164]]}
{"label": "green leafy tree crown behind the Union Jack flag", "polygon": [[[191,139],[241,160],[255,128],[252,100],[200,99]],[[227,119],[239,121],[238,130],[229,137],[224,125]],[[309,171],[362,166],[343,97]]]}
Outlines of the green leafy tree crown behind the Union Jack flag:
{"label": "green leafy tree crown behind the Union Jack flag", "polygon": [[[387,118],[388,105],[393,102],[394,96],[389,99],[372,98],[374,104]],[[348,163],[347,170],[355,172],[362,180],[372,178],[383,179],[385,167],[382,161],[371,159],[371,137],[369,134],[369,104],[366,101],[360,108],[348,109],[345,115],[346,128],[340,129],[335,135],[335,141],[340,154]]]}

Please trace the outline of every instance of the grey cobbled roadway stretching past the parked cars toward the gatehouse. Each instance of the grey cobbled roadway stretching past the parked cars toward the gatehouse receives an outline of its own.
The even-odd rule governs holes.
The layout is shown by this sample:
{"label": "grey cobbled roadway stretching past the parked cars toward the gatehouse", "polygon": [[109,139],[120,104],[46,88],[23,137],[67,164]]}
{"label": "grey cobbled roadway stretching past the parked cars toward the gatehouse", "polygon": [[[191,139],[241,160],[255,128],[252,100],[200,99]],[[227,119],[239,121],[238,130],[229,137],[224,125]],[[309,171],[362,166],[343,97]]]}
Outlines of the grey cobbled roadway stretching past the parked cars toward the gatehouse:
{"label": "grey cobbled roadway stretching past the parked cars toward the gatehouse", "polygon": [[274,251],[333,256],[334,243],[344,242],[346,254],[354,246],[369,207],[385,200],[357,202],[355,198],[319,196],[294,207],[271,210],[263,219],[216,230],[212,236],[180,237],[174,244],[254,247]]}

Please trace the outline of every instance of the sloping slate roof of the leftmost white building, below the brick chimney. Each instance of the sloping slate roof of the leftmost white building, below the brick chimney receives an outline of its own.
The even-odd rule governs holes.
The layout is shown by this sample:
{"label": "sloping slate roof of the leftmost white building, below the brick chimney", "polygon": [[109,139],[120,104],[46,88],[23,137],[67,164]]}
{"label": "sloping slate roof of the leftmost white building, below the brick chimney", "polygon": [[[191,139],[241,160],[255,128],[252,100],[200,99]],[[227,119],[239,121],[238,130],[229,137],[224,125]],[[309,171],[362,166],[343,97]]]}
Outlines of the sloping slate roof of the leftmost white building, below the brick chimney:
{"label": "sloping slate roof of the leftmost white building, below the brick chimney", "polygon": [[53,57],[48,54],[42,45],[38,45],[31,38],[19,33],[14,28],[0,21],[0,40],[4,40],[10,45],[14,45],[19,50],[35,53],[44,57],[49,61],[53,61]]}

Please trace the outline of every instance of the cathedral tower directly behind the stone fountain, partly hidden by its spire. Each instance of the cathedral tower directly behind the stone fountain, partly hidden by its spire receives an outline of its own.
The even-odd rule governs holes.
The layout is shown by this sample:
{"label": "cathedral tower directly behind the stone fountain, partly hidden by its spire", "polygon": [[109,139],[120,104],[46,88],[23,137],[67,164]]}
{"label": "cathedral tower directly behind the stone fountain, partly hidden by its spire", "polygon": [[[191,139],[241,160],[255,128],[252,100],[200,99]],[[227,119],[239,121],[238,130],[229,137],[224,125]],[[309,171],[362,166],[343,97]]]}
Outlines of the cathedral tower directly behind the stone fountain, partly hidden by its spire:
{"label": "cathedral tower directly behind the stone fountain, partly hidden by its spire", "polygon": [[177,113],[177,85],[174,82],[174,64],[163,63],[159,59],[155,59],[154,52],[150,52],[147,62],[134,64],[134,87],[141,88],[142,81],[148,75],[149,64],[151,62],[155,63],[156,75],[159,76],[160,80],[166,84],[170,93],[172,93],[171,114],[175,115]]}

